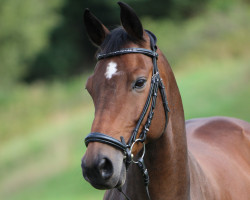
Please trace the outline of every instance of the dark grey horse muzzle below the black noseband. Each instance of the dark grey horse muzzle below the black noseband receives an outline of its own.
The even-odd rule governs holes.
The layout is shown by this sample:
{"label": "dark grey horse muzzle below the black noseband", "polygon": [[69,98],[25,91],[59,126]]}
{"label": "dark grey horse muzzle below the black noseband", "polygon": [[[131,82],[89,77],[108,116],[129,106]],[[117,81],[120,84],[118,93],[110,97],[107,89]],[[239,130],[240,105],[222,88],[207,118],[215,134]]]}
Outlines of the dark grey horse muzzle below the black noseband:
{"label": "dark grey horse muzzle below the black noseband", "polygon": [[83,177],[96,189],[112,189],[125,182],[123,154],[108,145],[90,144],[81,166]]}

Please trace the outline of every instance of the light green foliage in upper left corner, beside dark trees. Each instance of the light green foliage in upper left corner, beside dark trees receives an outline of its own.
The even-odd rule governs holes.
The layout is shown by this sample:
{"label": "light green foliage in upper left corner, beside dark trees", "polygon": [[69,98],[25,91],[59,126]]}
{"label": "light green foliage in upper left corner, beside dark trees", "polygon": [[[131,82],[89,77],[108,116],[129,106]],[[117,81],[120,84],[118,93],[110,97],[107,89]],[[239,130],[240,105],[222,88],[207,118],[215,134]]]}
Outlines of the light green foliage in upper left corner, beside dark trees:
{"label": "light green foliage in upper left corner, beside dark trees", "polygon": [[[49,3],[48,3],[49,2]],[[59,22],[61,0],[0,1],[0,84],[20,80]]]}

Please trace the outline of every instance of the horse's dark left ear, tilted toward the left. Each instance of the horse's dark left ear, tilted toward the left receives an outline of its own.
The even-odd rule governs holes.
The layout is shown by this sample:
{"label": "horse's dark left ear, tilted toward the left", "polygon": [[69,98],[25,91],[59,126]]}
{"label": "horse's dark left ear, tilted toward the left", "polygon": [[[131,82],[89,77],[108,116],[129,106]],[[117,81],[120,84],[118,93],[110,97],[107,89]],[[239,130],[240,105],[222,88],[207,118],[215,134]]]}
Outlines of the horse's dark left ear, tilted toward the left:
{"label": "horse's dark left ear, tilted toward the left", "polygon": [[109,34],[109,30],[88,8],[84,12],[84,24],[91,41],[96,46],[100,46],[107,34]]}

